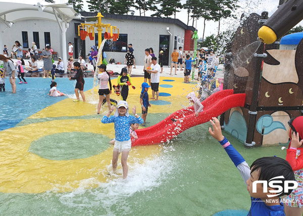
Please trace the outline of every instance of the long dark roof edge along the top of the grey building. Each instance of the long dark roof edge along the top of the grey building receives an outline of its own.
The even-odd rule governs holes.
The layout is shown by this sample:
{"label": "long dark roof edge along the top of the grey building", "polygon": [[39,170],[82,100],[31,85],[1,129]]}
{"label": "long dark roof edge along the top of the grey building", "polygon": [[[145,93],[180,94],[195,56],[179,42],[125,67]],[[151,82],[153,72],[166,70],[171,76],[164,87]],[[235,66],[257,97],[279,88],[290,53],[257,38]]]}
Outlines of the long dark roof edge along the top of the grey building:
{"label": "long dark roof edge along the top of the grey building", "polygon": [[[84,17],[95,17],[95,12],[80,12]],[[172,18],[161,18],[161,17],[144,17],[144,16],[133,16],[133,15],[119,15],[119,14],[102,14],[104,18],[117,19],[117,20],[134,20],[134,21],[145,21],[145,22],[158,22],[158,23],[172,23],[176,24],[186,30],[195,31],[193,26],[188,26],[179,19]]]}

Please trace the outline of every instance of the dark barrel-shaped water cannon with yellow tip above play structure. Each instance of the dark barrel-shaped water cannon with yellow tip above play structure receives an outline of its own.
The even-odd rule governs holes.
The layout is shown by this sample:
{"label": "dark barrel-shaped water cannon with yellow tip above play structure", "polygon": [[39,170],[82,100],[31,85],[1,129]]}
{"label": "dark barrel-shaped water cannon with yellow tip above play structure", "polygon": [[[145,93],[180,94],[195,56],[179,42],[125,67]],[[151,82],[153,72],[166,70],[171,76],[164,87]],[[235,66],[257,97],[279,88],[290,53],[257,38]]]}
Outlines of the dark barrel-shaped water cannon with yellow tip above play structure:
{"label": "dark barrel-shaped water cannon with yellow tip above play structure", "polygon": [[288,0],[259,29],[259,39],[266,44],[274,43],[302,19],[303,0]]}

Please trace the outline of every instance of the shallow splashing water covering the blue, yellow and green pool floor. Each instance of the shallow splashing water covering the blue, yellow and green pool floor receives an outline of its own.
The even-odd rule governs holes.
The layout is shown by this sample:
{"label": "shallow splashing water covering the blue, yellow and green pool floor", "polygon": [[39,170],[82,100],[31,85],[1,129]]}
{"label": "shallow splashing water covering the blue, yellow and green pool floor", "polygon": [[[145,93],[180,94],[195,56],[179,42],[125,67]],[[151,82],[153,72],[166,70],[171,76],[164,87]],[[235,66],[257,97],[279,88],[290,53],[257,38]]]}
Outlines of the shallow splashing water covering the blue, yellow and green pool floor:
{"label": "shallow splashing water covering the blue, yellow and green pool floor", "polygon": [[[121,165],[118,174],[111,172],[108,141],[114,136],[113,125],[101,124],[103,115],[93,114],[97,95],[87,93],[91,111],[89,104],[45,96],[48,88],[40,86],[40,80],[45,79],[28,79],[24,91],[17,86],[16,95],[0,94],[7,109],[15,107],[4,112],[2,121],[18,120],[0,132],[1,215],[247,215],[246,186],[225,150],[208,133],[209,123],[163,145],[133,147],[129,175],[123,180]],[[73,97],[73,81],[59,81],[58,89]],[[28,101],[27,106],[21,101]],[[47,116],[58,107],[69,110]],[[79,109],[84,115],[70,115]],[[150,113],[148,125],[168,115]],[[223,133],[248,165],[262,156],[285,158],[280,146],[248,149]]]}

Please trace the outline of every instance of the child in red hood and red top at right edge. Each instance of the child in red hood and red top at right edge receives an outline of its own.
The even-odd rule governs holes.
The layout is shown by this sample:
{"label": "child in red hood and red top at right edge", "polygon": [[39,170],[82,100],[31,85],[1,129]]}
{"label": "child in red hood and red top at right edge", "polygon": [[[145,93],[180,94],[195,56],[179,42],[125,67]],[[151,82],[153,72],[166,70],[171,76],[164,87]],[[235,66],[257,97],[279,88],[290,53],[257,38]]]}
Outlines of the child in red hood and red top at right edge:
{"label": "child in red hood and red top at right edge", "polygon": [[291,140],[286,160],[294,171],[298,187],[285,197],[288,201],[296,200],[296,202],[285,202],[284,208],[287,216],[300,216],[303,212],[303,154],[300,153],[303,150],[303,116],[289,120],[288,125],[290,128],[287,133]]}

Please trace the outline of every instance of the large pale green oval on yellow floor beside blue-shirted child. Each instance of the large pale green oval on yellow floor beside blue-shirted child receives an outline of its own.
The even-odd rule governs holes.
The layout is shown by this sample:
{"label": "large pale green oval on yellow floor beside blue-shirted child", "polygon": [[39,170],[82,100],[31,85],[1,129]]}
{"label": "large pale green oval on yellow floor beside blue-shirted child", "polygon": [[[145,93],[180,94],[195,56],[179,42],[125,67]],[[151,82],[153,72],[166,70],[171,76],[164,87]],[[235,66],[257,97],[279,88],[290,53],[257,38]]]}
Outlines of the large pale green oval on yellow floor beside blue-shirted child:
{"label": "large pale green oval on yellow floor beside blue-shirted child", "polygon": [[50,160],[87,158],[108,149],[111,139],[102,134],[71,132],[41,137],[30,144],[29,152]]}

